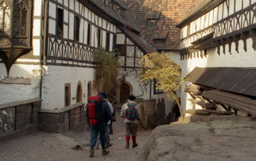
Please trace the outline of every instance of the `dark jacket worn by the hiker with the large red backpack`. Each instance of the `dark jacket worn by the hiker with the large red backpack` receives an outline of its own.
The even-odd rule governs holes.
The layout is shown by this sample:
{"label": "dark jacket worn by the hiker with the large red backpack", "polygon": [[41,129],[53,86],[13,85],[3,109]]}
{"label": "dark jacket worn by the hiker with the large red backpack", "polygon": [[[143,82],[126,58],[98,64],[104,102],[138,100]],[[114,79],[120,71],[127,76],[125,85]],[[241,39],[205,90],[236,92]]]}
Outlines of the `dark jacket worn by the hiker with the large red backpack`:
{"label": "dark jacket worn by the hiker with the large red backpack", "polygon": [[[102,115],[102,123],[99,125],[90,125],[91,127],[106,127],[106,124],[108,121],[112,118],[112,114],[110,111],[110,107],[108,106],[108,103],[102,99],[100,102],[100,107],[101,107],[101,115]],[[87,113],[86,116],[88,117]]]}

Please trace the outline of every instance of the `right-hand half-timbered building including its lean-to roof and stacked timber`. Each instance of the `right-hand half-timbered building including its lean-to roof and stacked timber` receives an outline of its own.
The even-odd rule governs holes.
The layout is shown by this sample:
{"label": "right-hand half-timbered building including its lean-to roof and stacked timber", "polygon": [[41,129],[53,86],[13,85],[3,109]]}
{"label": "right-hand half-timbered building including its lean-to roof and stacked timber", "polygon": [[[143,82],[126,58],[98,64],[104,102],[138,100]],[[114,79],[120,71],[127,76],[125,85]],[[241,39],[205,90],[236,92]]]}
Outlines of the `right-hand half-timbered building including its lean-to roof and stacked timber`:
{"label": "right-hand half-timbered building including its lean-to roof and stacked timber", "polygon": [[204,0],[177,24],[187,113],[256,115],[255,9],[255,0]]}

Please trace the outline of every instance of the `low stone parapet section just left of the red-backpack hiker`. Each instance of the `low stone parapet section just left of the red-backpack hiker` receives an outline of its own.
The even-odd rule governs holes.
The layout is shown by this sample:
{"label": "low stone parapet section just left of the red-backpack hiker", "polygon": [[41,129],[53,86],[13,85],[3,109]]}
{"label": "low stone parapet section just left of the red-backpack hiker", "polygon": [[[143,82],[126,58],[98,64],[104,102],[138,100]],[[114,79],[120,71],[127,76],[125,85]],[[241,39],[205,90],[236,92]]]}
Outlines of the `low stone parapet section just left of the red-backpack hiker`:
{"label": "low stone parapet section just left of the red-backpack hiker", "polygon": [[53,133],[84,129],[87,123],[84,105],[84,103],[80,102],[62,109],[40,109],[39,129]]}

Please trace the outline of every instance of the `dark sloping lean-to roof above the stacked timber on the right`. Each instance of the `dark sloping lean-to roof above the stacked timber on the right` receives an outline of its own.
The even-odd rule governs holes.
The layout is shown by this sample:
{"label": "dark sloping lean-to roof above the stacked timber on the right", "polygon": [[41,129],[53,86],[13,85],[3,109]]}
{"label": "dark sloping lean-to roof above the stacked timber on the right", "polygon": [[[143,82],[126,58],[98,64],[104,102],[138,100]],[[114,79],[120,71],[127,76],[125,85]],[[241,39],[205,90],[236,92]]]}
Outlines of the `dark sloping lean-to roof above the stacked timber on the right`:
{"label": "dark sloping lean-to roof above the stacked timber on the right", "polygon": [[256,68],[196,67],[187,78],[197,85],[256,97]]}

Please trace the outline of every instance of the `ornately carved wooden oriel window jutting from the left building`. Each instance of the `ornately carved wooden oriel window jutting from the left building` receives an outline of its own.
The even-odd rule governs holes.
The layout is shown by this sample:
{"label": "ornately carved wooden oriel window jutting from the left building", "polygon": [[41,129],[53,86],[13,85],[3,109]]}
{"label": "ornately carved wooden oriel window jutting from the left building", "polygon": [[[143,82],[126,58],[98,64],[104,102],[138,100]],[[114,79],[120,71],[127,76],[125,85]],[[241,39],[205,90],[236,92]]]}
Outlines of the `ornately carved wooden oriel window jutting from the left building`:
{"label": "ornately carved wooden oriel window jutting from the left building", "polygon": [[0,58],[7,74],[20,56],[32,50],[32,0],[0,0]]}

